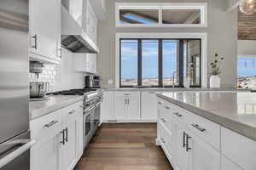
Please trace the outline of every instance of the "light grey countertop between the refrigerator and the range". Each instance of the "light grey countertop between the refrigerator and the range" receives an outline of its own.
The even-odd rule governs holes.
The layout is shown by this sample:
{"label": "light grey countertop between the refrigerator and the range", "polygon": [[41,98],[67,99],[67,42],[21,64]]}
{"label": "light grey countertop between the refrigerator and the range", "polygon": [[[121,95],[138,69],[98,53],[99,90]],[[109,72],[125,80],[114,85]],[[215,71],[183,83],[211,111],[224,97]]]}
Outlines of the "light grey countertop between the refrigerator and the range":
{"label": "light grey countertop between the refrigerator and the range", "polygon": [[55,95],[49,96],[48,100],[29,102],[30,119],[47,115],[68,105],[82,101],[84,96],[79,95]]}

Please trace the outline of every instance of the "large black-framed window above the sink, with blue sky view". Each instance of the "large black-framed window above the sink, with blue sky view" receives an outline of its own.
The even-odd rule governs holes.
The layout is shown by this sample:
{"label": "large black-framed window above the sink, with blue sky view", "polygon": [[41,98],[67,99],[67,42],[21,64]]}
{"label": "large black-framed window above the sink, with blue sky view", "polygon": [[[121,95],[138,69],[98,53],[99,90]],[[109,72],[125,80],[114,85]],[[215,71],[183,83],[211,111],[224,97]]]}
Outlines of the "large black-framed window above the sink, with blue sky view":
{"label": "large black-framed window above the sink, with blue sky view", "polygon": [[201,87],[200,39],[120,39],[119,87]]}

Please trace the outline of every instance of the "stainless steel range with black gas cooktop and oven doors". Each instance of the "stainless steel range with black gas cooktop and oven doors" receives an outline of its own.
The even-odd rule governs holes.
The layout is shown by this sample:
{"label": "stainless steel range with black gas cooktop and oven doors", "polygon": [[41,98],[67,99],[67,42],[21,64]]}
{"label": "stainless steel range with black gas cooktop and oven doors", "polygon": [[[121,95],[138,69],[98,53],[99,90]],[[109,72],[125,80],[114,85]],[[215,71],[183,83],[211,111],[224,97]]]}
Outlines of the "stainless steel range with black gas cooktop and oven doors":
{"label": "stainless steel range with black gas cooktop and oven doors", "polygon": [[71,89],[49,95],[84,95],[84,148],[96,133],[101,121],[102,90],[93,88]]}

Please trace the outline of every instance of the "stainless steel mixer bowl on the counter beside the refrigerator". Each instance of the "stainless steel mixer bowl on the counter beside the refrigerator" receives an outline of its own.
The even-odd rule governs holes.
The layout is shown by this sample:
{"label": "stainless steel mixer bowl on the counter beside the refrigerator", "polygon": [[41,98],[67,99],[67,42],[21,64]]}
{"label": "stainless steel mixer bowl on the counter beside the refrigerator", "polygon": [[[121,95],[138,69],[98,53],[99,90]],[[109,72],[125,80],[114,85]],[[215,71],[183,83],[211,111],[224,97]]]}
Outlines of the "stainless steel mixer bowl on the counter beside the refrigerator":
{"label": "stainless steel mixer bowl on the counter beside the refrigerator", "polygon": [[30,82],[29,89],[31,98],[44,98],[49,90],[49,82]]}

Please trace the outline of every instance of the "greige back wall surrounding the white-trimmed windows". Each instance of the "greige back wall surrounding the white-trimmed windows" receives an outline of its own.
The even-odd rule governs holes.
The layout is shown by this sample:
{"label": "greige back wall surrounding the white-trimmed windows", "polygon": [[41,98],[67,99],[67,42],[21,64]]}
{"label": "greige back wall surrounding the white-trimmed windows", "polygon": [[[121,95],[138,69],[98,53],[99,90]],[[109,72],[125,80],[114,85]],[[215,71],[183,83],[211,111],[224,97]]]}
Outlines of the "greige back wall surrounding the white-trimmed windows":
{"label": "greige back wall surrounding the white-trimmed windows", "polygon": [[[127,0],[107,0],[106,20],[99,22],[98,44],[101,49],[97,58],[97,68],[102,76],[103,88],[114,88],[115,74],[115,34],[117,32],[207,32],[208,64],[216,52],[224,56],[221,86],[236,87],[237,52],[237,9],[226,12],[224,0],[161,0],[162,3],[208,3],[207,28],[118,28],[115,27],[115,2],[127,3]],[[129,0],[129,3],[155,3],[155,0]],[[157,3],[160,3],[159,1]],[[210,68],[208,68],[210,72]],[[108,81],[112,80],[112,84]]]}

